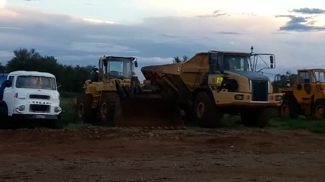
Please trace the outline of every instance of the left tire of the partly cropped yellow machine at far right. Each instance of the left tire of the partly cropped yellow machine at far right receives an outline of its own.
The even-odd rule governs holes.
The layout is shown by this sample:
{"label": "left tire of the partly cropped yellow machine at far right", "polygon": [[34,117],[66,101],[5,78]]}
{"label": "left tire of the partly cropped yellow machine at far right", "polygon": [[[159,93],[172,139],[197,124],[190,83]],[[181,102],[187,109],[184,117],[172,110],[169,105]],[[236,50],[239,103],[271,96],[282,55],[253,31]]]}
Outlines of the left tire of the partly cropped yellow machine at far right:
{"label": "left tire of the partly cropped yellow machine at far right", "polygon": [[280,117],[297,119],[299,117],[299,104],[294,98],[285,98],[278,113]]}

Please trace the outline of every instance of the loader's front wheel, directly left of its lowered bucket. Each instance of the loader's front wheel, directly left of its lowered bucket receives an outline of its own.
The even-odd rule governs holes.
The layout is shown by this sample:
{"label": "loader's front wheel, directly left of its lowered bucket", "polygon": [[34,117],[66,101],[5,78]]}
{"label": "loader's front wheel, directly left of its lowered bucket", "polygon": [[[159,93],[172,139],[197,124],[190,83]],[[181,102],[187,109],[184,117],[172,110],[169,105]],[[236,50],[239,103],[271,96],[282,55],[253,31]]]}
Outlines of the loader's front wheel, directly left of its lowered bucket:
{"label": "loader's front wheel, directly left of its lowered bucket", "polygon": [[115,93],[103,93],[100,102],[101,124],[114,126],[114,107],[118,95]]}

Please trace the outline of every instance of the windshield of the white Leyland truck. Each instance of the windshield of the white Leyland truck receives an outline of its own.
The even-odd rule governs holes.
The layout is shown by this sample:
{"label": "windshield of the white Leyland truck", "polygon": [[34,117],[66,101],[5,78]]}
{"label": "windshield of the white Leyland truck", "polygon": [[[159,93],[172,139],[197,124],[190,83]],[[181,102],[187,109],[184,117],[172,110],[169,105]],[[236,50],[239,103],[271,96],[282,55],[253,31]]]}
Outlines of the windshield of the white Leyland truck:
{"label": "windshield of the white Leyland truck", "polygon": [[56,90],[55,79],[45,76],[18,76],[16,87]]}

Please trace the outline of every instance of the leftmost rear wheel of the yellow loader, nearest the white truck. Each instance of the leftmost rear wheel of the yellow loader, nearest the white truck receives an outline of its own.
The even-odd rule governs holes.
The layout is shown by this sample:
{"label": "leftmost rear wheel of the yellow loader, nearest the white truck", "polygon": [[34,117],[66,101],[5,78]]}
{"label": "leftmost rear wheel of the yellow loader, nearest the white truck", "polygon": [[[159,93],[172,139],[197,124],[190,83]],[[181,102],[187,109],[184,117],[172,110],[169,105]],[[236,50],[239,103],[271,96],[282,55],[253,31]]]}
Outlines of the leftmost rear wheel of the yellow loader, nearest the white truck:
{"label": "leftmost rear wheel of the yellow loader, nearest the white truck", "polygon": [[91,123],[96,120],[95,110],[91,108],[93,97],[91,94],[82,94],[77,99],[76,120],[78,123]]}

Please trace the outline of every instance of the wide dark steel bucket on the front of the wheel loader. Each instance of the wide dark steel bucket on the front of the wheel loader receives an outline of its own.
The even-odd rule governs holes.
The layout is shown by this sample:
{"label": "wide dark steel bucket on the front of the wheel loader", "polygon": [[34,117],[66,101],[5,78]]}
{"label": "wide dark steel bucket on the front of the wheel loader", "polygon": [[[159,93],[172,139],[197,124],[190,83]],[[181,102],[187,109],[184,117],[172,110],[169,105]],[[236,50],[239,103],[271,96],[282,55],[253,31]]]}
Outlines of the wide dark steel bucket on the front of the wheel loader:
{"label": "wide dark steel bucket on the front of the wheel loader", "polygon": [[115,104],[117,127],[184,129],[177,99],[155,97],[120,98]]}

